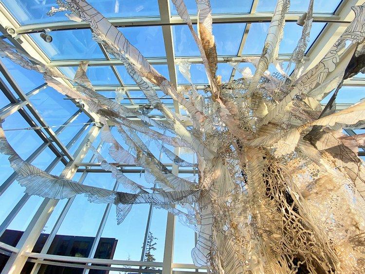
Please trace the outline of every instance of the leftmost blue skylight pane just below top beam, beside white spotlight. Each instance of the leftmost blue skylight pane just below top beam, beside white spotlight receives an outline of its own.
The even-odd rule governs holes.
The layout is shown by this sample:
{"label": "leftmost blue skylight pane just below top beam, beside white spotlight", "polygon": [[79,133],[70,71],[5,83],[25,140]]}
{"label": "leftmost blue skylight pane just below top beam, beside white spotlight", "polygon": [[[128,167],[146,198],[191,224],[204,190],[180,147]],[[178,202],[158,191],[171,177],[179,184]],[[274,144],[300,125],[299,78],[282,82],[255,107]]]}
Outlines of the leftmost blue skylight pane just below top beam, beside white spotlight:
{"label": "leftmost blue skylight pane just below top beam, beside white spotlight", "polygon": [[53,31],[51,34],[52,43],[45,42],[38,33],[30,37],[52,61],[105,58],[97,42],[92,40],[89,29]]}

